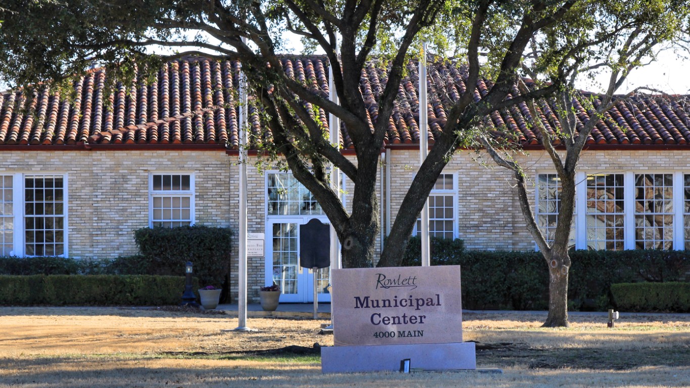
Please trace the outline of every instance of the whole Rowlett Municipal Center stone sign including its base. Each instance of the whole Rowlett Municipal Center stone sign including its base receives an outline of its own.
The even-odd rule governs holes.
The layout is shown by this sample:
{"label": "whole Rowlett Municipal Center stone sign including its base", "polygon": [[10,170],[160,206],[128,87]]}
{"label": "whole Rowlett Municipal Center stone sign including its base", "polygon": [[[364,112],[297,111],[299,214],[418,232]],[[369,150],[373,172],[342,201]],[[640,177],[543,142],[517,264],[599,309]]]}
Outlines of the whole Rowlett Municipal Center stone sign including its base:
{"label": "whole Rowlett Municipal Center stone sign including its base", "polygon": [[462,342],[460,266],[334,269],[333,340],[322,371],[475,369]]}

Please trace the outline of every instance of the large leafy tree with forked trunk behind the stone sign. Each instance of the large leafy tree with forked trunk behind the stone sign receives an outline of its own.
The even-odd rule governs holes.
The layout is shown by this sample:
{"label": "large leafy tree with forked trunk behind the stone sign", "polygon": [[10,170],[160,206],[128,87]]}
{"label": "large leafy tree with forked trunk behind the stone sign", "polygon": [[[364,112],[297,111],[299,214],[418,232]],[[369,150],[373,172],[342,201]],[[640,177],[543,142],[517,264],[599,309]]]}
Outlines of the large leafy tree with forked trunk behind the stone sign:
{"label": "large leafy tree with forked trunk behind the stone sign", "polygon": [[[662,1],[649,3],[658,12]],[[415,175],[381,252],[379,266],[400,262],[428,193],[450,155],[474,138],[495,110],[547,97],[560,90],[569,66],[602,39],[644,26],[625,12],[623,0],[10,0],[0,19],[0,72],[20,84],[62,79],[93,62],[131,75],[175,57],[238,59],[246,73],[273,147],[321,204],[342,243],[344,266],[371,266],[380,230],[375,182],[380,151],[412,48],[422,35],[439,52],[454,52],[462,79],[432,84],[446,108],[442,130]],[[15,10],[15,11],[12,11]],[[21,10],[21,11],[18,11]],[[640,12],[642,13],[642,12]],[[618,26],[618,28],[611,28]],[[339,104],[311,83],[288,77],[280,52],[293,32],[318,48],[333,67]],[[580,38],[573,44],[570,37]],[[341,43],[336,44],[336,41]],[[541,75],[553,82],[513,89],[531,42],[541,44]],[[147,55],[151,47],[170,55]],[[484,59],[482,59],[484,56]],[[384,69],[375,101],[364,101],[360,77],[375,60]],[[481,99],[475,98],[481,84]],[[451,92],[452,90],[452,92]],[[510,98],[509,98],[510,97]],[[342,121],[355,162],[324,139],[314,106]],[[420,104],[426,108],[426,103]],[[376,115],[369,115],[370,109]],[[373,118],[372,118],[373,117]],[[424,136],[426,134],[422,134]],[[353,182],[348,213],[331,188],[327,169],[336,166]],[[561,308],[560,305],[557,306]]]}

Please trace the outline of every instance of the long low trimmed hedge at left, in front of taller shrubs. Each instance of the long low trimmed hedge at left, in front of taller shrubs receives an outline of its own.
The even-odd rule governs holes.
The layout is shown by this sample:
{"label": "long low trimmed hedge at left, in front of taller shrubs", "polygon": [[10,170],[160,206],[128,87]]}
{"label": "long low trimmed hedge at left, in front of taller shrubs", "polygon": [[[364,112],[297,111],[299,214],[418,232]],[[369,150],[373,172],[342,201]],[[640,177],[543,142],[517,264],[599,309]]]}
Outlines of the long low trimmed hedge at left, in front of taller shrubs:
{"label": "long low trimmed hedge at left, in front of taller shrubs", "polygon": [[[151,306],[179,304],[184,276],[0,275],[0,304]],[[194,279],[193,289],[199,288]]]}

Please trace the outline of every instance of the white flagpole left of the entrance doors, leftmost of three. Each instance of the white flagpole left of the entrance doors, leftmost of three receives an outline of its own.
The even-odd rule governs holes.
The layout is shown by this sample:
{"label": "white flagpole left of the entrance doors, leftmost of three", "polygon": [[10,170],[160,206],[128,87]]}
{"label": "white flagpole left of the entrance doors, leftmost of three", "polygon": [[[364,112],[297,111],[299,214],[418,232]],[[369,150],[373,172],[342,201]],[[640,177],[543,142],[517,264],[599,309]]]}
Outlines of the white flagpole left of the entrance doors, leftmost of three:
{"label": "white flagpole left of the entrance doors, leftmost of three", "polygon": [[[246,38],[242,38],[246,43]],[[242,66],[242,65],[240,65]],[[237,273],[237,318],[235,331],[249,331],[247,327],[247,84],[244,72],[239,75],[239,265]]]}

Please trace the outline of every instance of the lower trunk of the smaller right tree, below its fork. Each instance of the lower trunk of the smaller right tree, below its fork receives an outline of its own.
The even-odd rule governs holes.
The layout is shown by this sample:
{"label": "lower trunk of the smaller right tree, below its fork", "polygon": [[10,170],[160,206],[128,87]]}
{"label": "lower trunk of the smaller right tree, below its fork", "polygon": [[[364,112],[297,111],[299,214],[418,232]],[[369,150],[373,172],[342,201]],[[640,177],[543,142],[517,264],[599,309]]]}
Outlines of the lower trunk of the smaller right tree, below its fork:
{"label": "lower trunk of the smaller right tree, below its fork", "polygon": [[570,263],[565,257],[551,255],[549,260],[549,316],[542,327],[568,327],[568,273]]}

